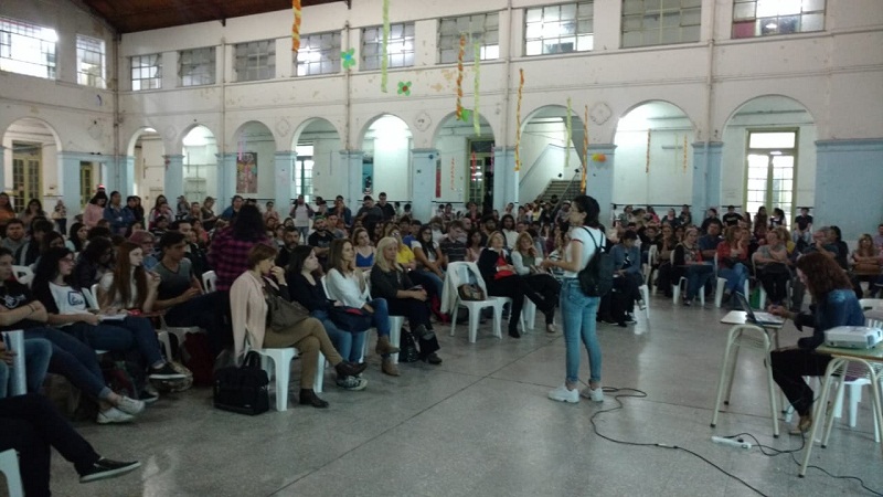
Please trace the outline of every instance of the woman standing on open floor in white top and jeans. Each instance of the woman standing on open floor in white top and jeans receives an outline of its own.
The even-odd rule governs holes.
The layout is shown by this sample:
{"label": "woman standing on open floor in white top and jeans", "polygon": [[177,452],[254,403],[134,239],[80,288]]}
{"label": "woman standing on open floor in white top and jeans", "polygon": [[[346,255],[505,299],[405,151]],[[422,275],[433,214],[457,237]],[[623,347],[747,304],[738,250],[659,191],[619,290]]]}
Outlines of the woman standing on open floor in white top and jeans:
{"label": "woman standing on open floor in white top and jeans", "polygon": [[577,275],[588,264],[599,246],[607,241],[598,223],[600,208],[597,200],[588,195],[573,199],[567,221],[571,225],[571,242],[564,250],[561,261],[545,258],[543,268],[564,269],[561,284],[561,316],[564,321],[564,345],[566,347],[566,379],[563,385],[549,392],[549,398],[558,402],[579,402],[579,338],[588,352],[591,376],[588,388],[582,395],[595,402],[604,401],[600,388],[600,345],[595,332],[595,317],[598,314],[600,297],[589,297],[579,288]]}

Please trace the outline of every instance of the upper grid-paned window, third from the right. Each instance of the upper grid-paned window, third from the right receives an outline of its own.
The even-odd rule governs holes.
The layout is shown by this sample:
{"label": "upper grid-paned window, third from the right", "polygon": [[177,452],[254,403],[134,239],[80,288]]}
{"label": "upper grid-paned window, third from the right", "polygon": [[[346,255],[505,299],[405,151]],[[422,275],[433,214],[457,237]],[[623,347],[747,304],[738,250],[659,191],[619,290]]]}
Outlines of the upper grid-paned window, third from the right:
{"label": "upper grid-paned window, third from the right", "polygon": [[593,2],[562,3],[524,11],[524,54],[587,52],[595,43]]}

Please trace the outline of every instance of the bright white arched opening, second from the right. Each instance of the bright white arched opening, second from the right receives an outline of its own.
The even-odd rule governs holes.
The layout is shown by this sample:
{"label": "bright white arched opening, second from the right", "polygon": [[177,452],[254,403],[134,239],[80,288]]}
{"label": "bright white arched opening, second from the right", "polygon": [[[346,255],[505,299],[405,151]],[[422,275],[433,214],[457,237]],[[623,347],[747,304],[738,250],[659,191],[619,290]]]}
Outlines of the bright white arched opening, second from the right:
{"label": "bright white arched opening, second from the right", "polygon": [[690,118],[668,102],[647,102],[620,117],[613,202],[649,204],[657,211],[692,203],[693,137]]}

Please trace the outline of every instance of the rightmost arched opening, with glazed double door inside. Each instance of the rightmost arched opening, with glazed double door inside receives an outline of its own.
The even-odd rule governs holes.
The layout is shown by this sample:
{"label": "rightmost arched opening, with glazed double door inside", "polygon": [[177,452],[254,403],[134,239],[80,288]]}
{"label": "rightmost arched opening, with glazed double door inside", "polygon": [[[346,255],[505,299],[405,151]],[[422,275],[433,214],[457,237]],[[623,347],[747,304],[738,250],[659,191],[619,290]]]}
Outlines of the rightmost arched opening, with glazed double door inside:
{"label": "rightmost arched opening, with glazed double door inside", "polygon": [[[794,220],[816,194],[816,125],[799,102],[766,95],[742,104],[723,133],[721,199],[754,215],[779,208]],[[790,225],[790,223],[788,223]]]}

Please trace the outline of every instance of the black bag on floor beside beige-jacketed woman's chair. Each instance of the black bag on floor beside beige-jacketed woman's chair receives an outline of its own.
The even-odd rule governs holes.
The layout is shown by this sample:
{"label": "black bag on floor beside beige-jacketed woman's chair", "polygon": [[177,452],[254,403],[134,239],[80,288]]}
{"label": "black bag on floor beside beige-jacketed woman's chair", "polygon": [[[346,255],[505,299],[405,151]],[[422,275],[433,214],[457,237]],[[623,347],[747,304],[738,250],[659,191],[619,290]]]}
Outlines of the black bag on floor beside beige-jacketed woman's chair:
{"label": "black bag on floor beside beige-jacketed woman's chair", "polygon": [[259,353],[248,352],[242,366],[215,371],[214,406],[252,416],[269,410],[269,378]]}

